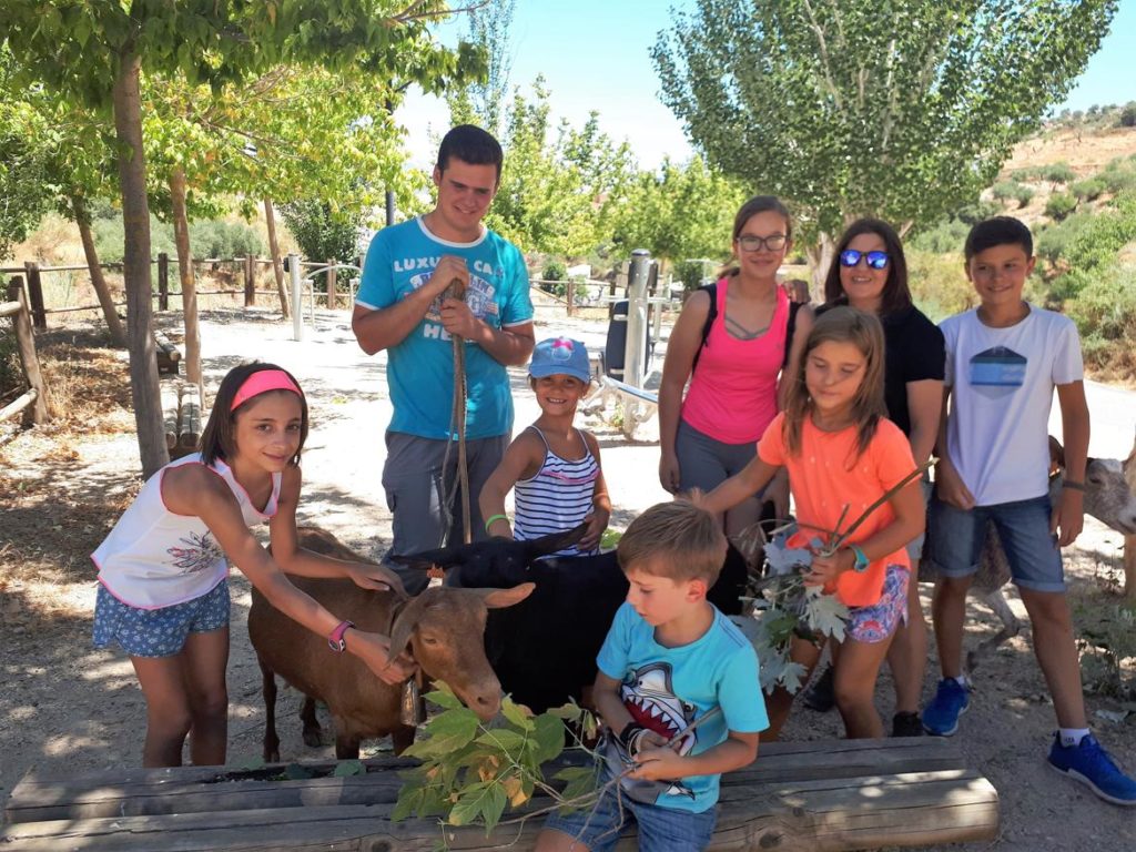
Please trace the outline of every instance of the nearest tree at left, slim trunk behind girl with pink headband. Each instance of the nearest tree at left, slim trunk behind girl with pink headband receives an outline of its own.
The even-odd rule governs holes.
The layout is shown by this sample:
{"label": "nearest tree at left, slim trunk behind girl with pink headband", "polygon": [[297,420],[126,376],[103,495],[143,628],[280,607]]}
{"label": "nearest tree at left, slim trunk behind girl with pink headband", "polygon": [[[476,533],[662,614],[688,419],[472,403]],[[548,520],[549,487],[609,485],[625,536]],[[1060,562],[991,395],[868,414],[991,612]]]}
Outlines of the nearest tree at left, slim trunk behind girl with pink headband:
{"label": "nearest tree at left, slim trunk behind girl with pink headband", "polygon": [[[408,5],[409,3],[409,5]],[[282,62],[398,68],[424,80],[479,69],[468,44],[434,45],[441,0],[7,0],[0,41],[19,74],[114,116],[126,244],[127,344],[142,471],[168,460],[152,337],[142,69],[218,87]]]}

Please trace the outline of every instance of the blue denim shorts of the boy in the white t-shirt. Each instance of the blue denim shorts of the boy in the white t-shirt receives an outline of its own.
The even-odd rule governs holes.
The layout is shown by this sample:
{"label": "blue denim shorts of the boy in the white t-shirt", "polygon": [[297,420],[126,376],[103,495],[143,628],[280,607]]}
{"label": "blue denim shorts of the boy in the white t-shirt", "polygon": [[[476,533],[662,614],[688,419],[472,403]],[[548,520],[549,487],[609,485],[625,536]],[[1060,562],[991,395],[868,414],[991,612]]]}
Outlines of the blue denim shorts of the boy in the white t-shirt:
{"label": "blue denim shorts of the boy in the white t-shirt", "polygon": [[958,509],[933,496],[927,515],[927,560],[944,577],[969,577],[978,570],[986,523],[993,521],[1021,588],[1064,592],[1061,551],[1050,533],[1050,498]]}

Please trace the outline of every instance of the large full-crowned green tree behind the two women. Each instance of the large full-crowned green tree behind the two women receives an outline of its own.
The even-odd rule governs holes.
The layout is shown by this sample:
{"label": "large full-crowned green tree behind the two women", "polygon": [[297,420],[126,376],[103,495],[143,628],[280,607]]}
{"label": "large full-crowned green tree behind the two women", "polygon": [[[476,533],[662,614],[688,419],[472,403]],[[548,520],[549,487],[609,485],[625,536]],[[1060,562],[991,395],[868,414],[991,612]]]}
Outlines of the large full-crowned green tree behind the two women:
{"label": "large full-crowned green tree behind the two women", "polygon": [[[885,11],[886,9],[886,11]],[[699,0],[652,50],[709,162],[786,198],[813,275],[858,216],[905,231],[989,186],[1061,102],[1116,0]]]}

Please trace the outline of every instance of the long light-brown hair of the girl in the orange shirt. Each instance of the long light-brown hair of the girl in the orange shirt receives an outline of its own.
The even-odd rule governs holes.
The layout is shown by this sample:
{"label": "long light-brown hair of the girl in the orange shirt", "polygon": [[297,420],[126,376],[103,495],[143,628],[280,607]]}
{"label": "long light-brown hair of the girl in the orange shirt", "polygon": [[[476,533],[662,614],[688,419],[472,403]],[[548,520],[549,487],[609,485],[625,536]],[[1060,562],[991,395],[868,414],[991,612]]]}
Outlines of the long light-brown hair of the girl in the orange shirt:
{"label": "long light-brown hair of the girl in the orange shirt", "polygon": [[[809,353],[821,343],[851,343],[866,361],[860,387],[852,398],[852,420],[857,425],[857,456],[863,453],[876,434],[880,417],[887,416],[884,403],[884,327],[871,314],[847,306],[826,308],[817,312],[817,320],[804,343],[797,374],[788,387],[785,404],[785,448],[790,453],[801,452],[801,431],[804,418],[812,411],[812,398],[804,375]],[[850,459],[849,463],[854,463]]]}

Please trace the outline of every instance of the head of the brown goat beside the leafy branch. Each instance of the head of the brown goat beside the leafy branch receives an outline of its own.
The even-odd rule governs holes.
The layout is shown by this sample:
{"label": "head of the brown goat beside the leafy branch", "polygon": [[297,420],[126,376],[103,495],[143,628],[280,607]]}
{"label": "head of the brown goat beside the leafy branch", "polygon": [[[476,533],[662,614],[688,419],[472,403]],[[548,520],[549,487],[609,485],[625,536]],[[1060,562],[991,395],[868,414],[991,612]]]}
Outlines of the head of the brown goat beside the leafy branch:
{"label": "head of the brown goat beside the leafy branch", "polygon": [[434,586],[407,601],[391,627],[391,653],[407,650],[429,677],[445,680],[482,719],[501,709],[501,682],[485,659],[487,609],[511,607],[536,586],[453,588]]}

